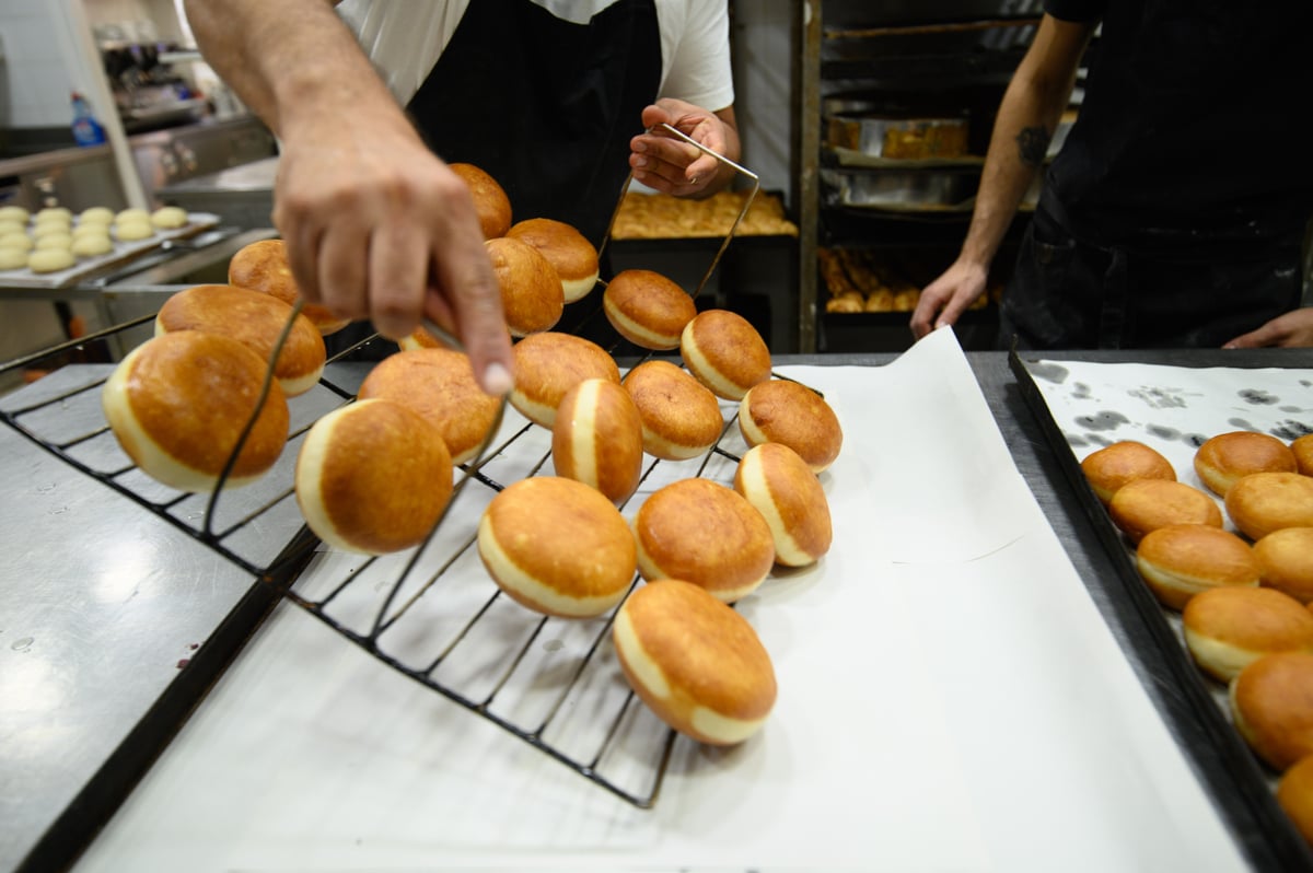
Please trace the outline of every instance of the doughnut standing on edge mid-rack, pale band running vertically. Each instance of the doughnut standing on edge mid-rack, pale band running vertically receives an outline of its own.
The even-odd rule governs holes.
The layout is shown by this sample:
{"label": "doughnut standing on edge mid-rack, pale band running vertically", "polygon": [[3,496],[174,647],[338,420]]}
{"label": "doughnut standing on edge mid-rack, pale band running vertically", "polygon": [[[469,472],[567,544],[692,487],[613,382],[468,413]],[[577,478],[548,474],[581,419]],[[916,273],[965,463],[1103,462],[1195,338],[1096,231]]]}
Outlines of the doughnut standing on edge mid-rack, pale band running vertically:
{"label": "doughnut standing on edge mid-rack, pale band running vertically", "polygon": [[557,475],[583,482],[621,504],[643,471],[643,423],[629,393],[607,379],[566,391],[551,427]]}

